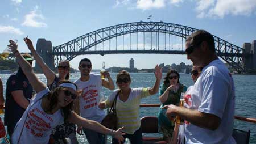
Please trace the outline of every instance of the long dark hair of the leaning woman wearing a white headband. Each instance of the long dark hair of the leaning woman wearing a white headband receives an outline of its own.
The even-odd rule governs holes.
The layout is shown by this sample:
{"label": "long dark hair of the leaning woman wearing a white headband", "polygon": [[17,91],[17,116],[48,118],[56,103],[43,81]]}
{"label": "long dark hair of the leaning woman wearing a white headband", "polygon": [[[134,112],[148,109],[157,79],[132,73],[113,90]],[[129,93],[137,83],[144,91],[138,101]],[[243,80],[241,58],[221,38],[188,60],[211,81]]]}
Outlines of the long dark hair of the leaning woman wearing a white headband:
{"label": "long dark hair of the leaning woman wearing a white headband", "polygon": [[[72,83],[70,81],[61,81],[61,83]],[[74,84],[74,83],[72,83]],[[76,86],[76,84],[74,84]],[[47,112],[51,112],[53,108],[56,107],[57,103],[59,103],[58,96],[60,94],[60,90],[63,90],[65,87],[56,87],[54,90],[52,90],[48,95],[47,98],[50,101],[49,109],[47,109]],[[77,88],[77,86],[76,86]],[[71,111],[73,111],[73,101],[69,103],[67,106],[61,108],[62,114],[64,116],[64,122],[68,121],[68,117],[71,114]]]}

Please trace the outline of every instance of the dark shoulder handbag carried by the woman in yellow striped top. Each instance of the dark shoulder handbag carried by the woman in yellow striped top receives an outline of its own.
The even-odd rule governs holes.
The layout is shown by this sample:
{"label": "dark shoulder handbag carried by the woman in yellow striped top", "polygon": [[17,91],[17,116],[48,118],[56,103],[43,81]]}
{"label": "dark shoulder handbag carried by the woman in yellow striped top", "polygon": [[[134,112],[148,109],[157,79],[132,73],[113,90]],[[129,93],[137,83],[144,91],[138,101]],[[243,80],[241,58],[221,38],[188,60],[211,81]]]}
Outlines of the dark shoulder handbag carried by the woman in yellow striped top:
{"label": "dark shoulder handbag carried by the woman in yellow striped top", "polygon": [[118,93],[119,91],[117,92],[117,95],[115,95],[115,99],[113,101],[112,107],[109,110],[108,115],[106,115],[101,121],[102,125],[104,125],[106,128],[113,130],[117,130],[117,113],[115,111],[115,105],[117,104]]}

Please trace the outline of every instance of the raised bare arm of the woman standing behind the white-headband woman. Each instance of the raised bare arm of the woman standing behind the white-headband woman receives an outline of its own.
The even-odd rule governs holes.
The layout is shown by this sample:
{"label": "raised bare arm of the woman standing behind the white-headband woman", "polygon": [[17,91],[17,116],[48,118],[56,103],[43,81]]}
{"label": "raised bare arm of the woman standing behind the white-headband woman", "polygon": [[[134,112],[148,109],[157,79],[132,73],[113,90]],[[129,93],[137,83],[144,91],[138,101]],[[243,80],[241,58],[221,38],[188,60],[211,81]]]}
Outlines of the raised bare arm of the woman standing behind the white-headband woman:
{"label": "raised bare arm of the woman standing behind the white-headband woman", "polygon": [[30,49],[30,52],[32,53],[32,56],[35,58],[36,63],[41,67],[43,70],[44,75],[47,79],[47,86],[52,84],[55,78],[55,73],[44,63],[43,58],[39,56],[38,52],[36,52],[32,41],[28,39],[27,37],[24,38],[25,43],[27,44],[28,49]]}

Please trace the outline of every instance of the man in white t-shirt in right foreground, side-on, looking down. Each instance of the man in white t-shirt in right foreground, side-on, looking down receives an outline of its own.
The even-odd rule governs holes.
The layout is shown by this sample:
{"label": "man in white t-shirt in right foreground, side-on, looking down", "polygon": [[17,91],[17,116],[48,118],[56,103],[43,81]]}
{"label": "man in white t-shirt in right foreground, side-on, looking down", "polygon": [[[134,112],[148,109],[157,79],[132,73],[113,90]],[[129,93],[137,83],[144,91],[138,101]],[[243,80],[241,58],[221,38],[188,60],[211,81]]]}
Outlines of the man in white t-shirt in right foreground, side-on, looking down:
{"label": "man in white t-shirt in right foreground, side-on, looking down", "polygon": [[203,71],[185,94],[184,107],[168,105],[166,115],[185,120],[186,143],[236,143],[232,137],[234,122],[234,82],[215,52],[213,36],[199,30],[187,37],[186,54]]}

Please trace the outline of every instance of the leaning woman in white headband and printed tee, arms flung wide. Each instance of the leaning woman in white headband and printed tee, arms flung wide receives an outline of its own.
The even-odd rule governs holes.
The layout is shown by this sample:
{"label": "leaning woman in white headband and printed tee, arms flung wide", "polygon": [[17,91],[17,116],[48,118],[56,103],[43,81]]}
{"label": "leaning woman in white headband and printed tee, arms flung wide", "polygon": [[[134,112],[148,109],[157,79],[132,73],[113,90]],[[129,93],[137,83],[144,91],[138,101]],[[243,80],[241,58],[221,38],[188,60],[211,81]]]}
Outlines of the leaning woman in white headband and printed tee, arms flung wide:
{"label": "leaning woman in white headband and printed tee, arms flung wide", "polygon": [[87,120],[73,112],[73,100],[77,97],[77,86],[69,81],[59,84],[55,90],[49,90],[35,75],[31,65],[24,60],[17,49],[16,43],[10,40],[9,48],[16,57],[24,74],[38,93],[31,100],[22,118],[16,124],[12,143],[48,143],[52,129],[64,121],[81,125],[97,132],[109,134],[123,141],[121,132],[105,128],[96,121]]}

